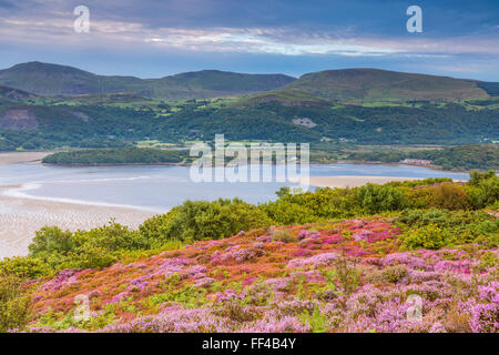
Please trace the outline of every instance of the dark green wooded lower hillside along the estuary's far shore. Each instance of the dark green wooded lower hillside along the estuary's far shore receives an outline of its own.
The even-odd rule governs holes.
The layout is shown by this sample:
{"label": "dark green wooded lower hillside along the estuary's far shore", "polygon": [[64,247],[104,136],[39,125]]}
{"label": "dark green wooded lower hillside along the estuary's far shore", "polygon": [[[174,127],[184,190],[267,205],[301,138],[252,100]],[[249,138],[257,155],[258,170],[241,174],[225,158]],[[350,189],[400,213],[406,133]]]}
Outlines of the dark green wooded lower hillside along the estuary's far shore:
{"label": "dark green wooded lower hillside along the estuary's far shore", "polygon": [[233,141],[354,144],[462,144],[499,140],[497,101],[473,109],[466,102],[375,106],[307,102],[313,104],[4,103],[0,104],[0,150],[112,148],[143,140],[211,141],[217,133]]}

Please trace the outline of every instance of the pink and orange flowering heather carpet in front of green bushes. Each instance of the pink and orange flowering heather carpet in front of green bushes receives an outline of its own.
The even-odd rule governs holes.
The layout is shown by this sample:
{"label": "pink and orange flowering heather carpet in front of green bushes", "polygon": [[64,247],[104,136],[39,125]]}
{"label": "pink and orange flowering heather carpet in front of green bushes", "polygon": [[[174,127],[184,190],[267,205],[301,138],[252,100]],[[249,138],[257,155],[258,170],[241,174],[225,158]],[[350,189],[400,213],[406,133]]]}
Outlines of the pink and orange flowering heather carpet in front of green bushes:
{"label": "pink and orange flowering heather carpet in front of green bushes", "polygon": [[[22,331],[499,329],[497,248],[407,251],[385,217],[282,230],[285,241],[272,229],[247,231],[39,280],[30,284],[34,312]],[[84,321],[73,320],[80,295],[89,298]]]}

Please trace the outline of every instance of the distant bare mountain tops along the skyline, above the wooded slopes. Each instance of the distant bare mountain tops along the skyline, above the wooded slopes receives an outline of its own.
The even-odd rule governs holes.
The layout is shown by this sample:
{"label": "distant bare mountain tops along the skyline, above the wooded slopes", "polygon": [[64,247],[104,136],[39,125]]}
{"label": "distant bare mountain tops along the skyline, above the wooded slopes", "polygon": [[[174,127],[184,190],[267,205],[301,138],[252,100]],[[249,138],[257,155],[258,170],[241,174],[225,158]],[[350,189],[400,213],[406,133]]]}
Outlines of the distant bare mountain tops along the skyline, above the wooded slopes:
{"label": "distant bare mountain tops along the skyline, above the wooded slopes", "polygon": [[[0,84],[38,95],[133,93],[166,101],[265,93],[258,101],[452,101],[499,94],[499,83],[379,69],[326,70],[302,75],[202,70],[160,79],[98,75],[77,68],[28,62],[0,70]],[[284,99],[283,99],[284,98]],[[291,99],[293,101],[293,99]]]}

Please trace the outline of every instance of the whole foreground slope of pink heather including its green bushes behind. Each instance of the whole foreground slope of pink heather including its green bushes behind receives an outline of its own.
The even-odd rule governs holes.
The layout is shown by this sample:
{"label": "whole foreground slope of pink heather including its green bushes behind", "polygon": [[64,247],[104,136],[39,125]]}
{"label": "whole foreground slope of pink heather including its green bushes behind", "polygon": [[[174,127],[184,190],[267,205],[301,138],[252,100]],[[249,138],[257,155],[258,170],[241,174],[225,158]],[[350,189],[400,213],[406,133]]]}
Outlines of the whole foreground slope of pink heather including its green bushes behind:
{"label": "whole foreground slope of pink heather including its green bushes behind", "polygon": [[30,305],[7,328],[496,333],[497,180],[283,189],[257,206],[186,202],[136,231],[47,227],[0,264],[22,286],[10,304]]}

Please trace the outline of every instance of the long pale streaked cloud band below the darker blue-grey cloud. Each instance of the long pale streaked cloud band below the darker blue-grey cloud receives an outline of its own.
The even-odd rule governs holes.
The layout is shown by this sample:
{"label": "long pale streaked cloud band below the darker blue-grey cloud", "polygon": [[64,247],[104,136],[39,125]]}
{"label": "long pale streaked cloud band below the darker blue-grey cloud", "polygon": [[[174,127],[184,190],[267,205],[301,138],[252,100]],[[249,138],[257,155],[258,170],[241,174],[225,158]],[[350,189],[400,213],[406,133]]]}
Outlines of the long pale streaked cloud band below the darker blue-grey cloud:
{"label": "long pale streaked cloud band below the darker blue-grey cloud", "polygon": [[[334,33],[296,28],[149,28],[139,22],[92,19],[90,33],[73,31],[73,16],[50,19],[0,18],[2,41],[11,43],[55,43],[58,47],[109,45],[208,52],[272,53],[282,55],[336,54],[452,55],[459,53],[499,54],[497,38],[449,39],[387,38],[356,34],[352,29]],[[495,36],[497,37],[497,36]],[[50,44],[49,44],[50,45]]]}

